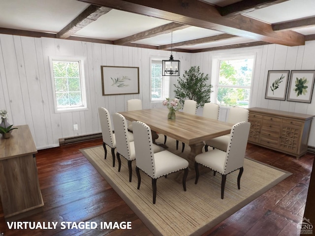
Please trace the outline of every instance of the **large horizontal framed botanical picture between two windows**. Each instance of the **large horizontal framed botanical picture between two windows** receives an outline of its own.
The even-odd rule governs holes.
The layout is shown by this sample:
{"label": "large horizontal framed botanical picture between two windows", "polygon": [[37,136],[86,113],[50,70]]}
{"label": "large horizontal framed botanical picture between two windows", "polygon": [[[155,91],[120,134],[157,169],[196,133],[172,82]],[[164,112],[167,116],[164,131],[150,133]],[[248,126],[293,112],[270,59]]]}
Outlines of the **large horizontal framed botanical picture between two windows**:
{"label": "large horizontal framed botanical picture between two windows", "polygon": [[138,94],[139,67],[101,65],[104,95]]}

